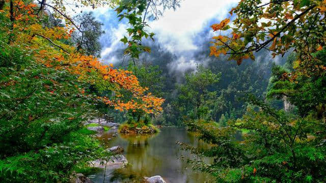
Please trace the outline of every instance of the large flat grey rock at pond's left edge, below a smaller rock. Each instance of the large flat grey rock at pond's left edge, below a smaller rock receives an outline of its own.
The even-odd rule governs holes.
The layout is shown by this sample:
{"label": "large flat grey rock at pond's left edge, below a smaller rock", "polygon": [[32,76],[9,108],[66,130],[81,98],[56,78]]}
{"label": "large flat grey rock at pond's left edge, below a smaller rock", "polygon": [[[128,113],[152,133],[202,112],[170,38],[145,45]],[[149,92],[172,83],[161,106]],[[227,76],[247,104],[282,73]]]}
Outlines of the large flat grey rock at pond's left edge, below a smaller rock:
{"label": "large flat grey rock at pond's left edge, below a smaller rock", "polygon": [[97,159],[89,162],[90,166],[97,168],[105,168],[108,166],[114,166],[116,168],[121,168],[128,164],[128,160],[123,155],[112,156],[106,163],[106,160]]}

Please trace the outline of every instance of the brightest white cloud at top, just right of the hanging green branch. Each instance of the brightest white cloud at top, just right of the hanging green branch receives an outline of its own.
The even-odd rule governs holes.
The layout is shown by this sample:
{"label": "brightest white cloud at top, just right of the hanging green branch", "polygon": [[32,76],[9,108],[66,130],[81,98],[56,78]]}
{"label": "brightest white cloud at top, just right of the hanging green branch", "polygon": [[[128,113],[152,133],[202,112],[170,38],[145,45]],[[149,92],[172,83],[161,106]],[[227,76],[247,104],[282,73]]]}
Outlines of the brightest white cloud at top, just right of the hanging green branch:
{"label": "brightest white cloud at top, just right of the hanging green branch", "polygon": [[185,0],[176,11],[168,10],[159,20],[150,22],[156,38],[162,45],[173,52],[197,49],[193,37],[204,26],[209,26],[208,20],[222,20],[228,16],[231,7],[238,0]]}

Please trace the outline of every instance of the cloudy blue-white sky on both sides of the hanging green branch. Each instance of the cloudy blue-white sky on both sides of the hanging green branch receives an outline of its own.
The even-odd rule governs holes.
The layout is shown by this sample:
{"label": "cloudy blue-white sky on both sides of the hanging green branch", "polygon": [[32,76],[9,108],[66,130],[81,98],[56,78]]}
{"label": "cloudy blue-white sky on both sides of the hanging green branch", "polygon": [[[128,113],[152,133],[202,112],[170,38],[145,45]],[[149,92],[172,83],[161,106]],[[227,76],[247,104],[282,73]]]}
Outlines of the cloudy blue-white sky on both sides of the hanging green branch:
{"label": "cloudy blue-white sky on both sides of the hanging green branch", "polygon": [[[159,45],[160,49],[173,53],[171,68],[181,71],[194,69],[196,63],[202,62],[194,54],[208,49],[203,45],[207,45],[214,35],[210,25],[229,17],[228,12],[237,3],[238,0],[184,0],[175,11],[167,10],[158,20],[148,22],[148,32],[156,34],[155,43],[145,43]],[[100,38],[103,62],[120,64],[123,59],[121,50],[125,48],[120,39],[127,36],[127,21],[119,22],[116,12],[109,8],[95,9],[94,16],[103,23],[105,31]]]}

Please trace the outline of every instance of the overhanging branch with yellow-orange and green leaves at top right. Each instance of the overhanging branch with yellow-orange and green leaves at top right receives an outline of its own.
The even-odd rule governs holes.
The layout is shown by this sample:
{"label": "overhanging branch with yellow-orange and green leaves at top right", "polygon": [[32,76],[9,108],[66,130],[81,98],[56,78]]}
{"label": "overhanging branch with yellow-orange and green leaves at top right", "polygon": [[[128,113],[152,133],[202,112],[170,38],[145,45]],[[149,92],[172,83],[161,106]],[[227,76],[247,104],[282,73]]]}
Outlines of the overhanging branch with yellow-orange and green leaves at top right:
{"label": "overhanging branch with yellow-orange and green leaves at top right", "polygon": [[294,49],[301,60],[310,58],[325,45],[325,10],[326,2],[320,0],[241,1],[230,11],[231,16],[236,14],[232,26],[229,18],[211,26],[213,31],[231,30],[231,34],[213,37],[210,54],[228,54],[238,65],[243,59],[254,59],[253,52],[262,49],[273,56]]}

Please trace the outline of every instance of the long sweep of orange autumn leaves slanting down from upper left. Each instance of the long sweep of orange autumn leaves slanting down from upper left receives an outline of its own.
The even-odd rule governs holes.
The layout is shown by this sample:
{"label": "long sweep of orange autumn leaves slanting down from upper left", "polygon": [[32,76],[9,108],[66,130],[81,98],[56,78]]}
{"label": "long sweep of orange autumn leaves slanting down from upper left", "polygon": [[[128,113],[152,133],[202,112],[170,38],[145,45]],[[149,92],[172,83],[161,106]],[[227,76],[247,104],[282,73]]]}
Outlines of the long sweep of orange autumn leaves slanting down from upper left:
{"label": "long sweep of orange autumn leaves slanting down from upper left", "polygon": [[[17,11],[12,15],[6,7],[7,17],[14,17],[13,26],[4,31],[15,34],[15,39],[10,44],[25,43],[34,55],[36,61],[48,68],[66,70],[75,75],[79,82],[98,86],[102,90],[111,90],[112,96],[94,97],[93,100],[104,102],[115,109],[136,110],[141,109],[146,113],[157,113],[164,102],[162,98],[156,98],[147,94],[148,88],[140,85],[136,76],[130,71],[114,69],[113,65],[104,65],[101,60],[90,55],[83,55],[73,46],[64,44],[63,40],[69,40],[75,28],[70,24],[65,27],[44,27],[36,16],[38,7],[34,4],[24,4],[22,1],[14,1]],[[80,95],[87,95],[87,88],[79,88]],[[125,97],[125,94],[131,97]]]}

